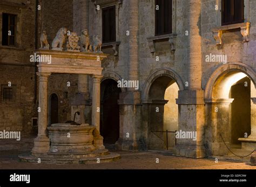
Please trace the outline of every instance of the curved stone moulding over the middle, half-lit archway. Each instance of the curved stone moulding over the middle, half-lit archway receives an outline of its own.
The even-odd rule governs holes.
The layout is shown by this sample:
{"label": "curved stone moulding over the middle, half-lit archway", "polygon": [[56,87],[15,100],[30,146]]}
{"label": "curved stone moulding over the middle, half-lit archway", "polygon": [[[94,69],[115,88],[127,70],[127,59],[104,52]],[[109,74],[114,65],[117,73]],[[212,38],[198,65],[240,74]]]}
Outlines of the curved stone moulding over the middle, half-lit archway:
{"label": "curved stone moulding over the middle, half-lit archway", "polygon": [[173,80],[175,80],[177,82],[177,85],[178,85],[180,91],[185,89],[182,79],[179,77],[179,75],[176,72],[174,72],[173,70],[171,70],[169,68],[158,69],[158,70],[154,71],[145,81],[143,94],[142,94],[143,100],[149,99],[149,92],[150,92],[150,87],[151,87],[152,83],[156,79],[158,79],[159,77],[162,77],[162,76],[170,77]]}

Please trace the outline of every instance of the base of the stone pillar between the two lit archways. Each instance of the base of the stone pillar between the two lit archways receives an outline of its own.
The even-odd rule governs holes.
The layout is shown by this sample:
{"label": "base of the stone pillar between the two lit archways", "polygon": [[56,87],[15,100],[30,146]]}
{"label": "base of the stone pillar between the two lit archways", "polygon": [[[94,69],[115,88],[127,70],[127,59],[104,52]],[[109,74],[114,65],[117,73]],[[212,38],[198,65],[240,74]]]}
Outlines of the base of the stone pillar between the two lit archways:
{"label": "base of the stone pillar between the two lit archways", "polygon": [[206,149],[205,147],[191,144],[177,144],[173,148],[173,155],[186,156],[192,158],[205,158]]}

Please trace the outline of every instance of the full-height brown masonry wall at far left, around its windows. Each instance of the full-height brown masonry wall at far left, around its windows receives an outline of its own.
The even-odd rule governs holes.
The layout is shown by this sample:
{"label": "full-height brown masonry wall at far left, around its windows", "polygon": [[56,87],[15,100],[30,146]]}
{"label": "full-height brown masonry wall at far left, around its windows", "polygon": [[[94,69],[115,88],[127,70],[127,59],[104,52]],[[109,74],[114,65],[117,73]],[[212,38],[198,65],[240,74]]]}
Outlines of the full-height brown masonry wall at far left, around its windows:
{"label": "full-height brown masonry wall at far left, around its windows", "polygon": [[[0,2],[0,25],[2,12],[17,15],[16,46],[0,43],[0,130],[22,131],[24,137],[36,133],[31,118],[37,117],[35,98],[34,64],[30,54],[35,49],[35,1]],[[0,40],[2,41],[2,29]],[[11,82],[13,100],[3,101],[3,87]]]}

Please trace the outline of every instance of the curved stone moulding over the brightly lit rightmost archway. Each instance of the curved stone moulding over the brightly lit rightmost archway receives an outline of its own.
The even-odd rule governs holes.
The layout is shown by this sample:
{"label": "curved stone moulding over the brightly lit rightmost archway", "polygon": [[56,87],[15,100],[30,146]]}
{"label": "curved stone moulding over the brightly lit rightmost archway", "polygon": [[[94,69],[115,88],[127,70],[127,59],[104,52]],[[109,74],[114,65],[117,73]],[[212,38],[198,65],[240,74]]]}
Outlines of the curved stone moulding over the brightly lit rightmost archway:
{"label": "curved stone moulding over the brightly lit rightmost archway", "polygon": [[205,94],[204,94],[205,100],[212,99],[213,87],[214,87],[215,82],[218,80],[218,78],[223,73],[231,72],[231,71],[240,71],[242,73],[245,73],[252,80],[252,82],[255,86],[256,73],[251,67],[249,67],[243,63],[232,63],[232,64],[221,65],[212,73],[211,77],[209,78],[209,80],[206,84]]}

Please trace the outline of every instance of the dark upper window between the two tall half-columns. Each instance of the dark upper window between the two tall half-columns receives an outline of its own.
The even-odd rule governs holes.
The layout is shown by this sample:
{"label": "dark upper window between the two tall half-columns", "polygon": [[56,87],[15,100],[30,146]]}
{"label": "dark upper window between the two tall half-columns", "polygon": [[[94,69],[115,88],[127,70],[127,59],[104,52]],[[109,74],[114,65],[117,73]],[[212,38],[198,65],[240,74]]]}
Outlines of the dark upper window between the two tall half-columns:
{"label": "dark upper window between the two tall half-columns", "polygon": [[172,1],[156,0],[156,36],[172,33]]}

